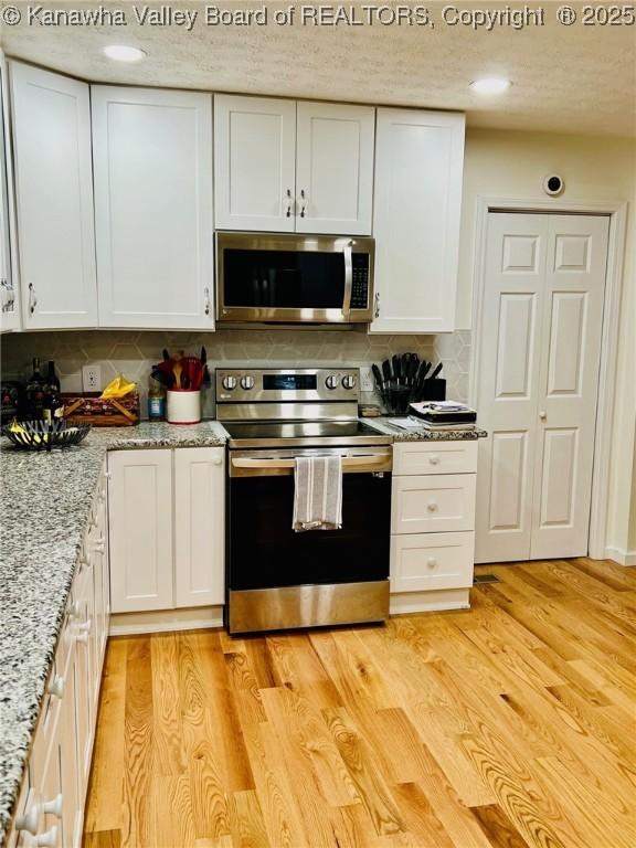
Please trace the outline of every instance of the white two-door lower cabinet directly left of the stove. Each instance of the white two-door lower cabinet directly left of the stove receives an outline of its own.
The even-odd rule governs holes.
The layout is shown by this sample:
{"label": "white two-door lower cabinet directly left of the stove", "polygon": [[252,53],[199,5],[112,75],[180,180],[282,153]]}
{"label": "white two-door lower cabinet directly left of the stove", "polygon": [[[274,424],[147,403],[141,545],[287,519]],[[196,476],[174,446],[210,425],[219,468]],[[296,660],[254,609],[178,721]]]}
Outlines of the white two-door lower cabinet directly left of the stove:
{"label": "white two-door lower cabinet directly left of the stove", "polygon": [[114,613],[223,604],[222,447],[108,455]]}

